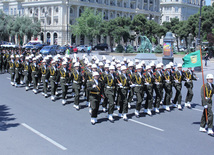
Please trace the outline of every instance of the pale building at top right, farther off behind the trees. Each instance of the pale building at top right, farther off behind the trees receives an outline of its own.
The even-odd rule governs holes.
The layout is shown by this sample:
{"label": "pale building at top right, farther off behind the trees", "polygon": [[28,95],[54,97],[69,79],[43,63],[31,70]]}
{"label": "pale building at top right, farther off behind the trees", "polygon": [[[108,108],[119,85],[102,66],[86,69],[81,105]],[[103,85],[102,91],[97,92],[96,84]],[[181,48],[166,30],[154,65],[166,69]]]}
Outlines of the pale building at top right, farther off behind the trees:
{"label": "pale building at top right, farther off behind the trees", "polygon": [[[205,5],[205,0],[202,2]],[[200,0],[161,0],[161,23],[169,22],[171,18],[187,20],[189,16],[196,14],[200,8]]]}

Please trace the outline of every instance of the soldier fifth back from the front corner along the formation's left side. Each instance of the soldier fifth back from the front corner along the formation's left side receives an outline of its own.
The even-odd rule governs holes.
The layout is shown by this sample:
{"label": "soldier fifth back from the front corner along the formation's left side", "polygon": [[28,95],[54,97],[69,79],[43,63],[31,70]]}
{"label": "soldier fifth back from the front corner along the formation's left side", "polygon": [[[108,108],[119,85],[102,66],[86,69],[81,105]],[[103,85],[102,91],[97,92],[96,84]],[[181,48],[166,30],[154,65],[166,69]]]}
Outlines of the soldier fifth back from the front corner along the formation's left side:
{"label": "soldier fifth back from the front corner along the formation's left side", "polygon": [[48,89],[48,68],[46,65],[46,60],[42,61],[42,65],[40,66],[41,73],[42,73],[42,83],[43,83],[43,92],[42,95],[45,96],[45,98],[48,97],[47,89]]}

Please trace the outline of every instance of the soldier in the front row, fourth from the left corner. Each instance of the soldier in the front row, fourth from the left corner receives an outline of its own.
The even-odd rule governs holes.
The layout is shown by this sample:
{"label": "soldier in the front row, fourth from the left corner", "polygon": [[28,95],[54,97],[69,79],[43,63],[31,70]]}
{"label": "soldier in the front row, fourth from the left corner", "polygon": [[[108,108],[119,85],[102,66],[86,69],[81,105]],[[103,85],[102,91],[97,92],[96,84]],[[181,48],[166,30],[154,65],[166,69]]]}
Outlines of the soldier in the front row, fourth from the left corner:
{"label": "soldier in the front row, fourth from the left corner", "polygon": [[133,74],[131,79],[131,88],[134,88],[134,92],[137,97],[136,109],[135,109],[135,116],[139,118],[139,112],[141,109],[141,104],[143,102],[143,89],[144,89],[144,77],[141,74],[142,67],[141,65],[136,66],[137,72]]}

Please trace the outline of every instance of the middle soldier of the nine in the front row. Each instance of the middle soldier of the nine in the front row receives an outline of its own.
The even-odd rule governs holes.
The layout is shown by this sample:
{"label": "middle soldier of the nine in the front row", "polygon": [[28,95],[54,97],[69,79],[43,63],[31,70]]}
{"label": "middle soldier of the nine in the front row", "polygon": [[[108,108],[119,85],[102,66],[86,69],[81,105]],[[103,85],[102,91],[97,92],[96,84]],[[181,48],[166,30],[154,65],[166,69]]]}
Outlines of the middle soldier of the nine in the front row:
{"label": "middle soldier of the nine in the front row", "polygon": [[146,66],[147,71],[144,73],[144,80],[145,80],[144,89],[147,95],[144,113],[147,113],[150,116],[152,115],[151,109],[153,104],[153,83],[154,83],[154,78],[153,78],[151,69],[152,68],[150,65]]}

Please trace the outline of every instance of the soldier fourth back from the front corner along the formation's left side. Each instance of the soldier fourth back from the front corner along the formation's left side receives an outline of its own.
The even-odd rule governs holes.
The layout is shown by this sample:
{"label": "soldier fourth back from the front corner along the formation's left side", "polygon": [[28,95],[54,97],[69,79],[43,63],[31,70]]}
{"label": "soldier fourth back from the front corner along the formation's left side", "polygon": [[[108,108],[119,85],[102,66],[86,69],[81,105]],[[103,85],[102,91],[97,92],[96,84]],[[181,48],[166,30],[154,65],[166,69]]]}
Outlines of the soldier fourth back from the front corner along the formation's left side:
{"label": "soldier fourth back from the front corner along the formation's left side", "polygon": [[52,101],[54,101],[56,99],[55,94],[56,94],[56,90],[57,90],[57,86],[58,86],[58,79],[57,79],[58,73],[59,73],[59,71],[56,66],[56,61],[53,60],[51,62],[51,66],[49,66],[49,68],[48,68],[48,75],[49,75],[50,84],[51,84],[51,100]]}

